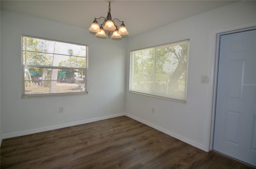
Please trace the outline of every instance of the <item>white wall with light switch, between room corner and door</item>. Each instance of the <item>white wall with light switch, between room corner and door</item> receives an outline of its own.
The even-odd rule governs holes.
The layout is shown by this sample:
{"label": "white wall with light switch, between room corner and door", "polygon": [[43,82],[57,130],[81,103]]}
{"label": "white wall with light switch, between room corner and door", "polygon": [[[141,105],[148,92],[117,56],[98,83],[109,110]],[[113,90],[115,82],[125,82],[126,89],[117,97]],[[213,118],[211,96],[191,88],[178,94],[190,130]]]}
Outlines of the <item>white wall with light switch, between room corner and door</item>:
{"label": "white wall with light switch, between room corner and door", "polygon": [[[127,55],[134,49],[190,39],[187,103],[181,104],[129,93],[129,65],[126,64],[126,113],[162,132],[205,151],[209,150],[212,110],[214,43],[212,32],[246,23],[256,25],[256,1],[242,1],[186,18],[162,28],[130,37]],[[200,83],[210,75],[209,83]],[[151,109],[155,108],[152,114]]]}

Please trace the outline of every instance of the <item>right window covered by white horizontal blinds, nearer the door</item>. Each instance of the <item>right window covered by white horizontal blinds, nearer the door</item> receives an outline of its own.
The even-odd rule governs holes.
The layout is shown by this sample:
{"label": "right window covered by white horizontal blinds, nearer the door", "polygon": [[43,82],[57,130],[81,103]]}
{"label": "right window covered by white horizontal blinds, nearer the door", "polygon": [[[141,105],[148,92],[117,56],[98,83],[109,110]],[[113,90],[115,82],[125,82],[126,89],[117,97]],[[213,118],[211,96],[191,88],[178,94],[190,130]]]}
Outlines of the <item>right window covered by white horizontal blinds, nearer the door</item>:
{"label": "right window covered by white horizontal blinds, nearer the door", "polygon": [[186,103],[189,40],[131,51],[130,92]]}

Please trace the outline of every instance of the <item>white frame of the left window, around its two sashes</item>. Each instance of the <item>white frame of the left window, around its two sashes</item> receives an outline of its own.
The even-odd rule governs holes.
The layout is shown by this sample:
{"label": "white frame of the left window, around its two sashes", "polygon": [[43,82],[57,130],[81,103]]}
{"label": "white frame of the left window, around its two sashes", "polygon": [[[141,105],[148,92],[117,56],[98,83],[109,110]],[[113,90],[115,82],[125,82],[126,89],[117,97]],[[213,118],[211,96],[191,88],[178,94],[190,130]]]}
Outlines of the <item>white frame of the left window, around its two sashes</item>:
{"label": "white frame of the left window, around its two sashes", "polygon": [[[42,66],[42,65],[28,65],[28,64],[24,64],[23,61],[23,37],[30,37],[30,38],[36,38],[36,39],[42,39],[42,40],[46,40],[46,41],[54,41],[54,42],[60,42],[60,43],[68,43],[68,44],[72,44],[72,45],[80,45],[85,47],[85,67],[60,67],[60,66]],[[61,55],[58,53],[52,53],[53,55],[57,54],[57,55]],[[22,95],[21,98],[35,98],[35,97],[51,97],[51,96],[72,96],[72,95],[81,95],[81,94],[88,94],[88,45],[85,44],[81,44],[81,43],[74,43],[74,42],[68,42],[68,41],[61,41],[61,40],[56,40],[56,39],[49,39],[49,38],[44,38],[44,37],[36,37],[36,36],[31,36],[31,35],[21,35],[21,66],[22,66]],[[45,68],[45,69],[81,69],[84,70],[85,74],[84,74],[84,80],[82,80],[82,82],[84,82],[84,91],[81,92],[48,92],[48,93],[38,93],[38,94],[26,94],[25,92],[25,71],[24,69],[26,67],[38,67],[38,68]],[[82,77],[83,79],[83,77]],[[31,79],[32,81],[32,79]],[[50,80],[52,81],[52,80]]]}

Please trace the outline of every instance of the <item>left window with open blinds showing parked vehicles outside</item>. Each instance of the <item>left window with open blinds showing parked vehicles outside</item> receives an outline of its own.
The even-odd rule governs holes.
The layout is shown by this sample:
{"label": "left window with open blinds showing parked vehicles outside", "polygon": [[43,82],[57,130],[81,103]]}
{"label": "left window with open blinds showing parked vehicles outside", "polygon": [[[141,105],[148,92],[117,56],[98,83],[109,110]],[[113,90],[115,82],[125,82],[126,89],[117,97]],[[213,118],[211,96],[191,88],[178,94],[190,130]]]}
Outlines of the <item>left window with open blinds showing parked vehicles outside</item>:
{"label": "left window with open blinds showing parked vehicles outside", "polygon": [[87,94],[88,45],[22,35],[22,98]]}

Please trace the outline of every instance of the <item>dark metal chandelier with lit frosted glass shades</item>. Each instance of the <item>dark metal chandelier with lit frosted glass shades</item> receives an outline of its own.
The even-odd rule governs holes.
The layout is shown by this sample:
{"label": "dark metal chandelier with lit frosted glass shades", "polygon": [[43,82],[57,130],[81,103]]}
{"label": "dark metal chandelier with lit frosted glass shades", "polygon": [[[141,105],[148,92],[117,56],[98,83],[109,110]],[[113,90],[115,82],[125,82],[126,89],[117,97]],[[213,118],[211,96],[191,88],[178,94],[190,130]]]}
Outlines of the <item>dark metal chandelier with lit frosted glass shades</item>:
{"label": "dark metal chandelier with lit frosted glass shades", "polygon": [[[105,17],[100,17],[100,18],[94,18],[94,21],[92,22],[91,27],[89,28],[90,31],[92,32],[96,32],[96,36],[100,36],[100,37],[106,37],[107,35],[105,34],[105,30],[108,32],[108,36],[110,36],[111,31],[114,31],[112,33],[112,38],[121,38],[121,35],[128,35],[128,31],[124,25],[124,21],[120,21],[118,19],[113,19],[111,18],[111,10],[110,10],[110,1],[109,1],[109,5],[108,5],[108,16]],[[98,25],[97,20],[104,18],[104,22],[102,24],[100,24],[100,26]],[[119,27],[119,29],[117,28],[116,24],[114,23],[114,21],[118,21],[120,23],[122,23]]]}

